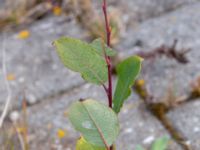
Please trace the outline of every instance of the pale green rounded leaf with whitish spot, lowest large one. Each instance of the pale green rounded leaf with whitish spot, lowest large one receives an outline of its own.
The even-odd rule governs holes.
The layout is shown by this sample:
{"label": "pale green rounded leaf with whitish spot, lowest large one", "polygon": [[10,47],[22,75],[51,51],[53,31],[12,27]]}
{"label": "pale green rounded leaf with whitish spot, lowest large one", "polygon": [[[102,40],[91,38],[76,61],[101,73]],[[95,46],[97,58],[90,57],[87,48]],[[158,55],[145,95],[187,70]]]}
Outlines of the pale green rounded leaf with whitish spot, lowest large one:
{"label": "pale green rounded leaf with whitish spot, lowest large one", "polygon": [[72,104],[69,119],[84,139],[96,146],[111,146],[119,134],[115,112],[91,99]]}

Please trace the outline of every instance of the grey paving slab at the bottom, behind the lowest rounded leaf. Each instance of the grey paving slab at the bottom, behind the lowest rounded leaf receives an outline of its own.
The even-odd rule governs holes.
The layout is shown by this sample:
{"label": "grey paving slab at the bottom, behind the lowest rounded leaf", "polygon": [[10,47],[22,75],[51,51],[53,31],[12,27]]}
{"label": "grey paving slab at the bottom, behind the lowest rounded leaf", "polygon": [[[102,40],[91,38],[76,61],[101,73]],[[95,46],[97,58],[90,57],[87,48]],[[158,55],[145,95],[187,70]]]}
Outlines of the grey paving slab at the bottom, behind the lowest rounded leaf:
{"label": "grey paving slab at the bottom, behind the lowest rounded leaf", "polygon": [[[94,98],[107,103],[106,95],[103,93],[103,88],[86,84],[72,93],[29,108],[29,128],[32,131],[31,136],[35,137],[32,139],[31,149],[38,147],[38,143],[43,143],[42,141],[45,141],[45,144],[40,146],[41,150],[50,149],[52,145],[59,145],[61,141],[56,135],[58,129],[67,131],[67,136],[63,141],[70,145],[65,144],[63,149],[74,149],[74,140],[79,135],[69,123],[67,108],[79,98]],[[118,150],[132,150],[138,144],[147,148],[156,138],[169,136],[160,122],[150,115],[142,105],[132,97],[123,107],[119,117],[121,133],[117,140]],[[60,144],[62,145],[62,142]],[[180,147],[171,142],[169,149],[179,150]]]}

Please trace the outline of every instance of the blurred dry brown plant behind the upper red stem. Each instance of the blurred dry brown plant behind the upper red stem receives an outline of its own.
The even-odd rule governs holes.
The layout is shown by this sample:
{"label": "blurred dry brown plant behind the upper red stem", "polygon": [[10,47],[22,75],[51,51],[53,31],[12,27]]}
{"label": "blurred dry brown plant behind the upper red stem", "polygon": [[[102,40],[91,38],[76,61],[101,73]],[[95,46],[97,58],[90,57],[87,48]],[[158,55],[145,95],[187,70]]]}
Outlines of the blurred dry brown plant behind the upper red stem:
{"label": "blurred dry brown plant behind the upper red stem", "polygon": [[[95,11],[91,0],[65,0],[63,9],[67,14],[75,15],[76,20],[89,31],[90,37],[102,37],[106,41],[104,19]],[[120,11],[114,8],[108,14],[112,27],[112,45],[119,42],[120,31],[123,30],[120,16]]]}

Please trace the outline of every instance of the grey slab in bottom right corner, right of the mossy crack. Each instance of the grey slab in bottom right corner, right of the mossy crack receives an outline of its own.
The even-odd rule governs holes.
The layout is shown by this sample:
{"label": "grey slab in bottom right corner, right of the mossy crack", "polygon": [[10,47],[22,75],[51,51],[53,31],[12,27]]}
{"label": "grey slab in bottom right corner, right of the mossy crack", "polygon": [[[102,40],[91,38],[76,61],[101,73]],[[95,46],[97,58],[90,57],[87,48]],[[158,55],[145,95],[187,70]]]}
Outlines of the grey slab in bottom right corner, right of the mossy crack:
{"label": "grey slab in bottom right corner, right of the mossy crack", "polygon": [[177,107],[167,115],[177,129],[188,139],[192,150],[200,149],[200,101]]}

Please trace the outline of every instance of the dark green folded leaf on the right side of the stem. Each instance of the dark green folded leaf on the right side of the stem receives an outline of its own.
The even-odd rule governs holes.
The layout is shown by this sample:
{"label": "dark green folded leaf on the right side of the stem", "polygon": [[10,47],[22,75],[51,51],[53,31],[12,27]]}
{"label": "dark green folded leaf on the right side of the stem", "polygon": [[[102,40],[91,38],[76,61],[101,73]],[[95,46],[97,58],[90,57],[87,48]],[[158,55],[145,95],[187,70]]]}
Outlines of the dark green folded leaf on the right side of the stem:
{"label": "dark green folded leaf on the right side of the stem", "polygon": [[113,99],[113,110],[116,113],[119,113],[124,101],[131,94],[130,88],[140,72],[141,62],[140,57],[131,56],[117,65],[118,81]]}

